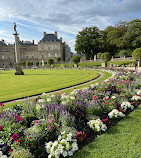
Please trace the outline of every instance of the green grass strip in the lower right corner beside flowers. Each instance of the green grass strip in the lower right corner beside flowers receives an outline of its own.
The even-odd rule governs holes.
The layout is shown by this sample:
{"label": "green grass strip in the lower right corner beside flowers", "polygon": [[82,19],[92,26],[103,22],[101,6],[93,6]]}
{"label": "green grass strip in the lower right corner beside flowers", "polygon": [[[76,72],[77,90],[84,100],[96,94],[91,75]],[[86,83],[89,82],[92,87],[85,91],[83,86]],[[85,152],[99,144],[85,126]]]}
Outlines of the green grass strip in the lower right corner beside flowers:
{"label": "green grass strip in the lower right corner beside flowers", "polygon": [[141,105],[72,158],[141,158]]}

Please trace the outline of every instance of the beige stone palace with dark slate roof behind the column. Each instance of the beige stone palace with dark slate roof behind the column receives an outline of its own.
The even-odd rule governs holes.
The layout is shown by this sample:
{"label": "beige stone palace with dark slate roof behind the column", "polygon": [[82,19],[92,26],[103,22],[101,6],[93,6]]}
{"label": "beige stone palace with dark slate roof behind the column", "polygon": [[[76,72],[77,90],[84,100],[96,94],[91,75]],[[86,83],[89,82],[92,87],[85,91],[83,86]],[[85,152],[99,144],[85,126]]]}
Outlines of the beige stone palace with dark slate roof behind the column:
{"label": "beige stone palace with dark slate roof behind the column", "polygon": [[[30,41],[19,40],[19,52],[21,61],[30,61],[35,65],[36,62],[47,61],[48,58],[56,61],[57,57],[61,57],[62,61],[71,58],[70,47],[62,42],[62,38],[58,39],[57,32],[54,34],[46,34],[38,42],[38,44]],[[6,45],[4,40],[0,41],[0,67],[13,67],[15,65],[14,45]]]}

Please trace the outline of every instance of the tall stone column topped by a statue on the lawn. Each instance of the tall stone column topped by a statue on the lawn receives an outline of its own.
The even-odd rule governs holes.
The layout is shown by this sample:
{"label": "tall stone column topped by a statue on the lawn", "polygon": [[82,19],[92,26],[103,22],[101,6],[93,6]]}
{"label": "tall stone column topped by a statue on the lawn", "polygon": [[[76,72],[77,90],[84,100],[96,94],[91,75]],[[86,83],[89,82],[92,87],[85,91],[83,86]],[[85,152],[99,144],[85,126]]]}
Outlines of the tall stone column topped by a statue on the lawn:
{"label": "tall stone column topped by a statue on the lawn", "polygon": [[16,30],[16,23],[14,23],[14,33],[13,35],[15,36],[15,56],[16,56],[16,72],[15,75],[24,75],[24,72],[22,71],[22,65],[21,65],[21,60],[20,60],[20,52],[18,48],[18,33]]}

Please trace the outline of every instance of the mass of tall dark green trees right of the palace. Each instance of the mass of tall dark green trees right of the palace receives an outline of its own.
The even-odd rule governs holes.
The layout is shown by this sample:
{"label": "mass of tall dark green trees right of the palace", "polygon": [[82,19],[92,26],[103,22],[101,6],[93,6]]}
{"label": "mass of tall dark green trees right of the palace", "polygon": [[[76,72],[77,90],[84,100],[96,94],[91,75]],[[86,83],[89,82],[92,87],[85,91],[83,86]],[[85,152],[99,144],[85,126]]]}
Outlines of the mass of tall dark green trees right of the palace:
{"label": "mass of tall dark green trees right of the palace", "polygon": [[76,36],[75,50],[84,53],[86,59],[93,59],[97,53],[109,52],[111,56],[119,56],[121,50],[131,52],[141,47],[141,20],[123,21],[105,30],[98,27],[86,27]]}

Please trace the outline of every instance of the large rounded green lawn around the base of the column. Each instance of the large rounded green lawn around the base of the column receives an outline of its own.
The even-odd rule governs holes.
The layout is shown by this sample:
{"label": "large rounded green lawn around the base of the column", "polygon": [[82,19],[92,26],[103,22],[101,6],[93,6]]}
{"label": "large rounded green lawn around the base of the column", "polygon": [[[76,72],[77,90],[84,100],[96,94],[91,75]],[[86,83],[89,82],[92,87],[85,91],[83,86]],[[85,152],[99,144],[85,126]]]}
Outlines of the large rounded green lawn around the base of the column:
{"label": "large rounded green lawn around the base of the column", "polygon": [[48,92],[98,77],[88,70],[24,70],[15,76],[15,70],[0,71],[0,102]]}

